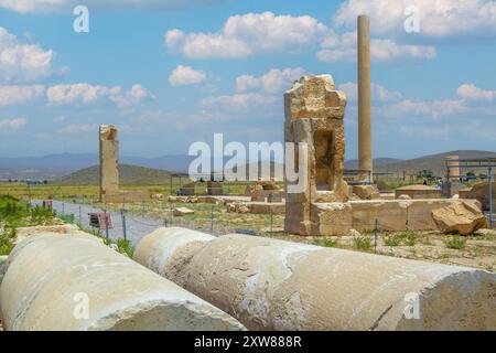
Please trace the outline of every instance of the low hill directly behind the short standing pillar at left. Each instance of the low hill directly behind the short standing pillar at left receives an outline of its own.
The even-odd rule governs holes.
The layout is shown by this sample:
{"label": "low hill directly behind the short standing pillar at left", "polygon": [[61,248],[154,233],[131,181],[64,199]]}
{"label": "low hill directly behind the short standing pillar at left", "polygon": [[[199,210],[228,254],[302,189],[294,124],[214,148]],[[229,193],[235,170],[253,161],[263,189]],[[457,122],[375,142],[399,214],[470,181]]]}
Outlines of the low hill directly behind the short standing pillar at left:
{"label": "low hill directly behind the short standing pillar at left", "polygon": [[[120,164],[119,183],[123,185],[158,185],[168,184],[171,172],[161,169]],[[99,167],[93,165],[78,170],[53,181],[57,185],[97,185]]]}

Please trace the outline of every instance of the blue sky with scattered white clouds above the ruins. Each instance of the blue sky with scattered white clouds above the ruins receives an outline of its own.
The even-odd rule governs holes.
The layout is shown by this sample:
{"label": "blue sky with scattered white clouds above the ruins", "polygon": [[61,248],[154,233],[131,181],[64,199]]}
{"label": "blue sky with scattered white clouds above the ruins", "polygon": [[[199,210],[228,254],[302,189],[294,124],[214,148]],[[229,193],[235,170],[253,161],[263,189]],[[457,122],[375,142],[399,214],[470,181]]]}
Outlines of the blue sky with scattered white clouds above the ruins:
{"label": "blue sky with scattered white clouds above the ruins", "polygon": [[0,0],[0,157],[96,153],[100,124],[123,156],[281,141],[284,90],[332,74],[356,158],[359,14],[375,157],[496,150],[496,1]]}

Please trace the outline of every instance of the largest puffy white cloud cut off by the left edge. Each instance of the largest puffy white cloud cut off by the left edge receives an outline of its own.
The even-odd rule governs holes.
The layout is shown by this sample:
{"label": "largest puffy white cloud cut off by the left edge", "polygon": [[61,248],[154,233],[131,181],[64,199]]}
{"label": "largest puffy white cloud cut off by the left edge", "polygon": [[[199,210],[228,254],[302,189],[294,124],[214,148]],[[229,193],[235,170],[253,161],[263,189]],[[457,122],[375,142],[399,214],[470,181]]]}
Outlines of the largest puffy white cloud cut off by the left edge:
{"label": "largest puffy white cloud cut off by the left edge", "polygon": [[[1,0],[0,0],[1,1]],[[34,81],[52,74],[55,53],[37,44],[22,44],[0,26],[0,81]]]}

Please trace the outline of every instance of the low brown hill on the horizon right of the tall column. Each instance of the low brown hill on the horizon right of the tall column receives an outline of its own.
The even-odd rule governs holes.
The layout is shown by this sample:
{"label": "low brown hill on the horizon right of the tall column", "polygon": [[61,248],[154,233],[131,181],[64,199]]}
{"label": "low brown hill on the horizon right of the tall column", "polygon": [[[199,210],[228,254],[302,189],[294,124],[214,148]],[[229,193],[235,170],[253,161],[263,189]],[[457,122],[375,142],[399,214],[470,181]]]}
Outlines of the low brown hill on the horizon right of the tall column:
{"label": "low brown hill on the horizon right of the tall column", "polygon": [[[402,173],[406,171],[407,173],[416,173],[421,170],[431,170],[434,175],[443,176],[446,173],[445,170],[445,159],[448,156],[459,156],[460,159],[472,159],[472,158],[496,158],[495,152],[489,151],[476,151],[476,150],[459,150],[444,152],[439,154],[424,156],[421,158],[398,161],[392,163],[387,163],[384,165],[377,165],[374,168],[375,172],[379,173]],[[468,172],[471,170],[463,170],[462,174]],[[484,170],[474,170],[477,174],[484,173]]]}

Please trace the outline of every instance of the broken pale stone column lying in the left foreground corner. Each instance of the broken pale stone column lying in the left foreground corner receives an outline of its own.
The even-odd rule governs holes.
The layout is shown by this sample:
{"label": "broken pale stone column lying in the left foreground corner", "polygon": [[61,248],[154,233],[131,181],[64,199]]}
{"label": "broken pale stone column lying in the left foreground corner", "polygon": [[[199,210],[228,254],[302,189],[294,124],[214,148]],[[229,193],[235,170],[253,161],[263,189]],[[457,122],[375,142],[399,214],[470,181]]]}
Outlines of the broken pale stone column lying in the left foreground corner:
{"label": "broken pale stone column lying in the left foreground corner", "polygon": [[235,319],[89,235],[19,244],[0,288],[6,330],[242,330]]}

